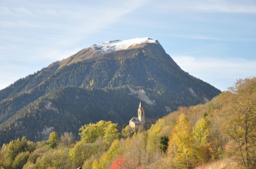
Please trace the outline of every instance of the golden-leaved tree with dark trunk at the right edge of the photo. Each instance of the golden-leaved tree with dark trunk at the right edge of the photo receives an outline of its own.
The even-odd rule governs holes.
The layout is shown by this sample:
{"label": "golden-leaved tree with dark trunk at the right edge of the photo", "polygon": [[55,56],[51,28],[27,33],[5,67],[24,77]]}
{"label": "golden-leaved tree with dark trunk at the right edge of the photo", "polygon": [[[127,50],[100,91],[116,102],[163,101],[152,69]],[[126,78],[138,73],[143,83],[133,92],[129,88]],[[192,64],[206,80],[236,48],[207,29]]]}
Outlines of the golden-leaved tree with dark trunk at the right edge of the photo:
{"label": "golden-leaved tree with dark trunk at the right edge of the photo", "polygon": [[[256,97],[242,95],[230,108],[230,116],[222,126],[223,132],[237,145],[243,165],[252,167],[252,152],[256,146]],[[235,151],[237,151],[235,149]],[[255,156],[254,156],[255,158]]]}

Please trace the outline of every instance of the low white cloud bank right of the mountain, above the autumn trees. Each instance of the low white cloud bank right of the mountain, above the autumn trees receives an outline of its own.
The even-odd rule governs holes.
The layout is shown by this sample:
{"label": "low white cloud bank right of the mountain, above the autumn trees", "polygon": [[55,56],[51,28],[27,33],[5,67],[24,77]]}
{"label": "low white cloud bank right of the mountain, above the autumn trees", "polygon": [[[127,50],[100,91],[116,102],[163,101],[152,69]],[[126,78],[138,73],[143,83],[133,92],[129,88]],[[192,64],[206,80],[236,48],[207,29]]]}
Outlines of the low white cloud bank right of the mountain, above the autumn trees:
{"label": "low white cloud bank right of the mountain, above the autumn trees", "polygon": [[232,86],[236,79],[256,76],[256,60],[193,57],[184,54],[171,57],[184,71],[222,91]]}

